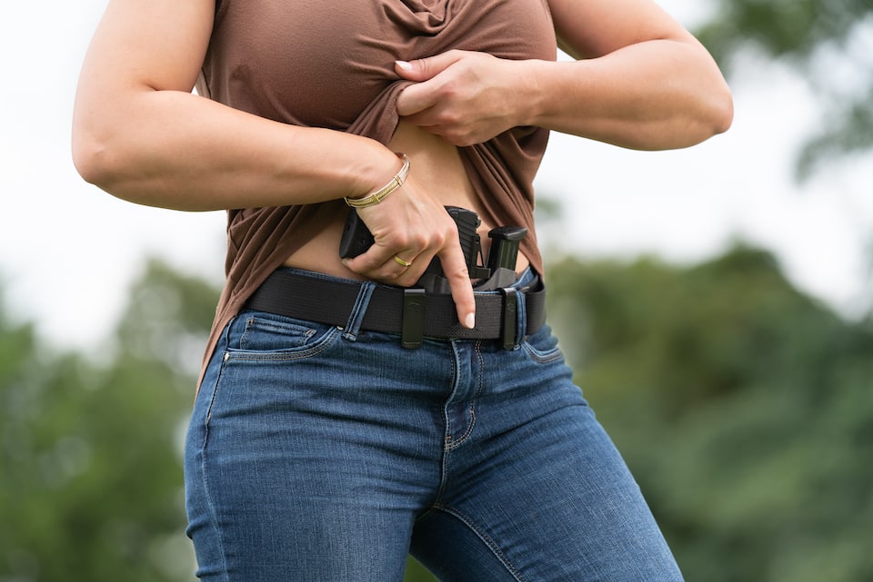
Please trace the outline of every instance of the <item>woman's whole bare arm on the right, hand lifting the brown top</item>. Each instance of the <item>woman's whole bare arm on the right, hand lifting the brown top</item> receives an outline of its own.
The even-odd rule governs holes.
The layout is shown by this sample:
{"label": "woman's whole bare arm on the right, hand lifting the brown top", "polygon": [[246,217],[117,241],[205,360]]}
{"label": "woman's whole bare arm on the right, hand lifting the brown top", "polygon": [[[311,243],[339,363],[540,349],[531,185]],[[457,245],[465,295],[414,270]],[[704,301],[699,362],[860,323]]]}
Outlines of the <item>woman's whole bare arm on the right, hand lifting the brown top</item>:
{"label": "woman's whole bare arm on the right, hand lifting the brown top", "polygon": [[728,129],[733,103],[706,48],[652,0],[548,0],[577,61],[453,50],[398,62],[397,113],[457,146],[533,125],[642,150]]}

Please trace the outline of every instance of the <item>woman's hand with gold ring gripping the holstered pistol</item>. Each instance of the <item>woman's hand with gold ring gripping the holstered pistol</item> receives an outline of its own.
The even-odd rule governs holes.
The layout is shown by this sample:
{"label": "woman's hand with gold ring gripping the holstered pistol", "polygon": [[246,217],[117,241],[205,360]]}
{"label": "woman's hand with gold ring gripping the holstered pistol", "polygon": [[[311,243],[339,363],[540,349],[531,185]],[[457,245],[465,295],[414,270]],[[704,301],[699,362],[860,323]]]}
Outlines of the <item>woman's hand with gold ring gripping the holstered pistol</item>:
{"label": "woman's hand with gold ring gripping the holstered pistol", "polygon": [[359,208],[357,213],[373,234],[374,243],[363,254],[344,260],[348,269],[368,279],[409,287],[437,256],[455,300],[458,321],[468,329],[474,327],[476,301],[457,225],[443,204],[416,182],[415,171],[383,202]]}

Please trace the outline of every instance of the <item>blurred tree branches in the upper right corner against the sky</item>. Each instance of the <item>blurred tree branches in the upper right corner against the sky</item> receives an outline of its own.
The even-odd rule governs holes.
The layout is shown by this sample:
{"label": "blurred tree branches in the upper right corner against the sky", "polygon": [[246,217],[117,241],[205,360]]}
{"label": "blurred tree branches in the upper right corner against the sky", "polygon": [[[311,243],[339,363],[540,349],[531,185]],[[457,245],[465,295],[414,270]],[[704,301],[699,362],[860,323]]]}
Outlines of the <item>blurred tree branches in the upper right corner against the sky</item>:
{"label": "blurred tree branches in the upper right corner against the sky", "polygon": [[756,48],[794,66],[822,100],[823,123],[798,158],[819,163],[873,146],[873,5],[869,0],[714,0],[697,35],[730,73]]}

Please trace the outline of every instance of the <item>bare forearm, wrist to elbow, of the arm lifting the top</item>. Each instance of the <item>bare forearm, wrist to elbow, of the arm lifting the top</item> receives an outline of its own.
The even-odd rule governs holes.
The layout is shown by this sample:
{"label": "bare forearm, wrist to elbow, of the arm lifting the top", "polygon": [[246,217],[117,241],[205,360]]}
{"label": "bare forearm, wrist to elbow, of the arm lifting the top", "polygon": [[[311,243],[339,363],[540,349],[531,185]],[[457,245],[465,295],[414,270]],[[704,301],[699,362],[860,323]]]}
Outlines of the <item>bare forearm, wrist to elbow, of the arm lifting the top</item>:
{"label": "bare forearm, wrist to elbow, of the arm lifting the top", "polygon": [[597,58],[523,66],[525,124],[660,150],[702,142],[733,118],[728,85],[696,41],[651,40]]}

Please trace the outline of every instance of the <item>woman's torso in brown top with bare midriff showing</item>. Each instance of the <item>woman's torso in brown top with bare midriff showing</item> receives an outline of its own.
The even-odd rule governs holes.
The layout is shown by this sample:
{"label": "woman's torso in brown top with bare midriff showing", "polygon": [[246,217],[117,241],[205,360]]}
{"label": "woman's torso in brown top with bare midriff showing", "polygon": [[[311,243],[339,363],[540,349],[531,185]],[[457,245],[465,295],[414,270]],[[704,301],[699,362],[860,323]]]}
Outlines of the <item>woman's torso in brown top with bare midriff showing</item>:
{"label": "woman's torso in brown top with bare midriff showing", "polygon": [[[417,182],[438,184],[441,202],[479,214],[485,247],[487,231],[509,220],[495,218],[503,209],[514,212],[516,220],[508,224],[524,218],[532,226],[530,182],[546,132],[529,128],[519,136],[498,136],[462,155],[450,143],[403,122],[395,101],[408,82],[396,75],[395,61],[453,48],[507,59],[554,59],[547,0],[221,0],[197,89],[262,117],[366,135],[406,153]],[[253,212],[259,211],[231,213],[228,265],[242,256],[264,256],[252,249],[244,252],[245,245],[269,236],[250,232],[248,222],[258,222]],[[353,277],[338,256],[346,212],[341,203],[309,209],[306,235],[303,229],[289,229],[276,246],[287,250],[282,261]],[[527,254],[533,250],[528,244]],[[522,258],[518,267],[526,264]],[[234,268],[239,281],[247,277],[242,270],[251,271],[246,265]]]}

